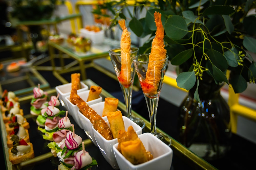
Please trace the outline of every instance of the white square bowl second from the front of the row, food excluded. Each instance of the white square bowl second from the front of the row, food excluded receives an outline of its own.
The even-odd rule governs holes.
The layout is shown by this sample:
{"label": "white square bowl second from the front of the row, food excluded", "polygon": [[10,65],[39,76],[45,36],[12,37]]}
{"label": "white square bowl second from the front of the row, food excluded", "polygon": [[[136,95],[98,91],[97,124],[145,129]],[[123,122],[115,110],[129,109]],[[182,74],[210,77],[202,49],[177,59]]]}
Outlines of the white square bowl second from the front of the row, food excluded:
{"label": "white square bowl second from the front of the row, food excluded", "polygon": [[[103,118],[106,118],[106,116],[104,116]],[[127,131],[129,126],[133,126],[133,129],[135,130],[137,135],[142,134],[142,128],[139,125],[131,121],[126,116],[123,116],[123,120],[124,120],[125,131]],[[106,120],[106,123],[109,125],[108,120]],[[103,138],[103,136],[99,132],[97,132],[97,130],[94,129],[93,126],[92,126],[92,130],[93,130],[93,134],[97,142],[97,145],[101,151],[101,154],[104,156],[106,161],[108,161],[108,163],[112,166],[112,168],[119,169],[119,166],[116,162],[115,154],[113,151],[114,144],[118,143],[117,138],[112,140],[106,140],[105,138]]]}

